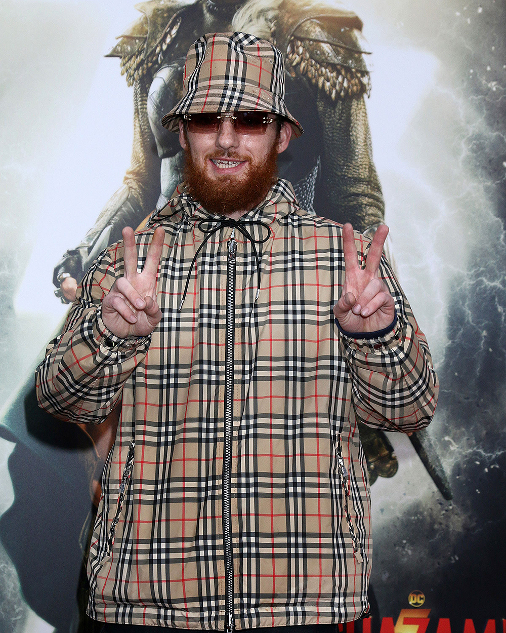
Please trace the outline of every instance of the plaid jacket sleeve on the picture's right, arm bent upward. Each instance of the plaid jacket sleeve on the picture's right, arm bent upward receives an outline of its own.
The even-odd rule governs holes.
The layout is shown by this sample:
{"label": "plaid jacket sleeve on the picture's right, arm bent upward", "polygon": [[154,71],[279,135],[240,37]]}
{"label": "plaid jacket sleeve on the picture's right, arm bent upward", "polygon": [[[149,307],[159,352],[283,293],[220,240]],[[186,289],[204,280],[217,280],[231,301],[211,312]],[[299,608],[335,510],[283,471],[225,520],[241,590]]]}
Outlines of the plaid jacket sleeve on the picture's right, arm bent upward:
{"label": "plaid jacket sleeve on the picture's right, arm bent upward", "polygon": [[[365,258],[362,261],[365,265]],[[369,337],[340,333],[352,377],[352,406],[357,420],[367,426],[410,433],[431,421],[438,377],[425,335],[385,258],[379,276],[395,301],[393,327]]]}

